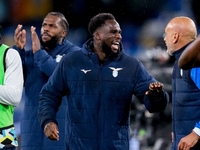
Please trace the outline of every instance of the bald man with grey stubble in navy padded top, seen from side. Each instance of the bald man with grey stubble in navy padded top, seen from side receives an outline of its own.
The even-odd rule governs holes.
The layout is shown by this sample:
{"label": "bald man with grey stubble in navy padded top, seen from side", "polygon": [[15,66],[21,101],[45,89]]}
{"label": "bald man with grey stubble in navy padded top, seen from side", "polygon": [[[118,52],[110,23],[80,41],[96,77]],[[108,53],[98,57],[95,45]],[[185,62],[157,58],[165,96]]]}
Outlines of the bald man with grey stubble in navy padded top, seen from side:
{"label": "bald man with grey stubble in navy padded top, seen from side", "polygon": [[200,90],[192,69],[182,70],[178,60],[195,40],[195,23],[188,17],[173,18],[165,28],[167,52],[176,58],[172,76],[172,150],[200,150]]}

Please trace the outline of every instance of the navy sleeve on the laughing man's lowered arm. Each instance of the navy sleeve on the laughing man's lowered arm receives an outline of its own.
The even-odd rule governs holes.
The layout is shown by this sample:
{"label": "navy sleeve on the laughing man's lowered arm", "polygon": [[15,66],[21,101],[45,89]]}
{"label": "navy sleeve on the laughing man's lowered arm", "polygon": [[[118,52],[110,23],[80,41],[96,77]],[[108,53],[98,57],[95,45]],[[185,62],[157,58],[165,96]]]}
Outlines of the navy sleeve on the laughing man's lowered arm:
{"label": "navy sleeve on the laughing man's lowered arm", "polygon": [[56,112],[61,104],[62,97],[66,95],[62,66],[62,63],[58,65],[40,93],[38,118],[42,129],[48,122],[57,123]]}

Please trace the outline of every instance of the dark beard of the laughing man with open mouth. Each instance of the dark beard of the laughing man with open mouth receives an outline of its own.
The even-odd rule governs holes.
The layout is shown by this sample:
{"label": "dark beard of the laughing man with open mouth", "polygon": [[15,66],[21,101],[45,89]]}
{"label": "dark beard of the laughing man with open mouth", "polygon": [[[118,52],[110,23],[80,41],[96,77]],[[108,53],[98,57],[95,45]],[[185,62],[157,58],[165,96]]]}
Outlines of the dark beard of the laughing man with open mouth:
{"label": "dark beard of the laughing man with open mouth", "polygon": [[116,53],[113,52],[112,49],[105,42],[102,43],[102,49],[103,49],[103,52],[106,54],[107,58],[114,59],[119,55],[119,53],[121,51],[121,43],[120,43],[120,47]]}

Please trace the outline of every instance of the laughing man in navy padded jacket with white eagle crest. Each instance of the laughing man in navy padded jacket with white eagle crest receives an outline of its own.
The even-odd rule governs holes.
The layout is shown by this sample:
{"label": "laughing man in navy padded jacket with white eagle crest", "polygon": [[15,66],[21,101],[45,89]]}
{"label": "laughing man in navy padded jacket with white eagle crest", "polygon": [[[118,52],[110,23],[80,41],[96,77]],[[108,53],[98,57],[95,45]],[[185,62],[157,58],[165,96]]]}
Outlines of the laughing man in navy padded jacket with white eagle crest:
{"label": "laughing man in navy padded jacket with white eagle crest", "polygon": [[93,39],[65,56],[41,91],[39,121],[49,139],[59,140],[55,114],[67,95],[67,150],[128,150],[132,95],[155,112],[166,107],[168,94],[139,60],[123,52],[113,15],[98,14],[89,31]]}

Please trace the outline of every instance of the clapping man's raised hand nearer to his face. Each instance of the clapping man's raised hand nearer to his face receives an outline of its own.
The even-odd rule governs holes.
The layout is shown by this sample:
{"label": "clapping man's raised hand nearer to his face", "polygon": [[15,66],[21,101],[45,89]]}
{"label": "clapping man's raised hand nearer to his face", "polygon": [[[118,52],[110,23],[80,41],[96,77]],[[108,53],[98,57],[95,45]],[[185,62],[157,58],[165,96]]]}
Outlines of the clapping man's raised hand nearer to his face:
{"label": "clapping man's raised hand nearer to his face", "polygon": [[40,40],[35,32],[35,27],[31,26],[31,38],[32,38],[32,48],[33,53],[37,52],[40,49]]}

